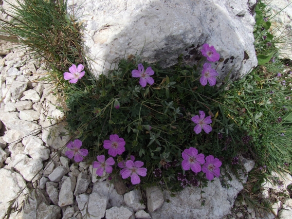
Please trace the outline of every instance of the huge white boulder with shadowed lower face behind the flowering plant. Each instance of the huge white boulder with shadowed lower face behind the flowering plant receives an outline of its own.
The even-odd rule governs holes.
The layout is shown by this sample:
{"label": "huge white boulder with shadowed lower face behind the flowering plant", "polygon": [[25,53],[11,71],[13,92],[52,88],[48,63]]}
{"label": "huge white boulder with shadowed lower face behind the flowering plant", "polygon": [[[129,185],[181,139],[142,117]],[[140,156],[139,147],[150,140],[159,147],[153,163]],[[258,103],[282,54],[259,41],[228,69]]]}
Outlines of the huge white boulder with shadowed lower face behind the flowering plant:
{"label": "huge white boulder with shadowed lower face behind the flowering plant", "polygon": [[95,75],[142,51],[144,60],[162,67],[176,64],[180,54],[194,64],[204,43],[224,60],[212,64],[219,64],[220,77],[232,70],[237,78],[257,65],[248,0],[69,0],[71,10],[73,2]]}

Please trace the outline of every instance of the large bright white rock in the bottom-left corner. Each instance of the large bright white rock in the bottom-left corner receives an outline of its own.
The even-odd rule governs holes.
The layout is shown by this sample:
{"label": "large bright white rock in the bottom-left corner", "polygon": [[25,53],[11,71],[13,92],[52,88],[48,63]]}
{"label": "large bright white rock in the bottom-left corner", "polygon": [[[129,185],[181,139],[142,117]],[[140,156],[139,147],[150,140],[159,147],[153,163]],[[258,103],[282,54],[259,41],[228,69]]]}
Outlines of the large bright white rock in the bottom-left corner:
{"label": "large bright white rock in the bottom-left corner", "polygon": [[[26,182],[23,177],[17,173],[5,168],[0,168],[0,218],[4,218],[9,207],[9,201],[18,196],[18,192],[24,189]],[[19,197],[18,203],[24,200],[24,194],[28,192],[25,188]]]}

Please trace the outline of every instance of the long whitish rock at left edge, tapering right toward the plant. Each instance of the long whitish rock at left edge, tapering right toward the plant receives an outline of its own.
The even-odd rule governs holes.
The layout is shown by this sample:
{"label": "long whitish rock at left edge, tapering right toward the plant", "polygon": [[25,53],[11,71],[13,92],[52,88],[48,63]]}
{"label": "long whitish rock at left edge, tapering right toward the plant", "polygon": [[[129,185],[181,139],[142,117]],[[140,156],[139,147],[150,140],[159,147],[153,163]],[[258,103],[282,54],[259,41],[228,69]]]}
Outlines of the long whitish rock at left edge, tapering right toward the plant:
{"label": "long whitish rock at left edge, tapering right toward the plant", "polygon": [[13,112],[3,112],[3,113],[1,112],[0,120],[4,123],[4,125],[7,128],[21,131],[27,135],[29,134],[36,135],[40,131],[40,128],[41,128],[41,126],[37,125],[34,122],[18,119],[17,114]]}

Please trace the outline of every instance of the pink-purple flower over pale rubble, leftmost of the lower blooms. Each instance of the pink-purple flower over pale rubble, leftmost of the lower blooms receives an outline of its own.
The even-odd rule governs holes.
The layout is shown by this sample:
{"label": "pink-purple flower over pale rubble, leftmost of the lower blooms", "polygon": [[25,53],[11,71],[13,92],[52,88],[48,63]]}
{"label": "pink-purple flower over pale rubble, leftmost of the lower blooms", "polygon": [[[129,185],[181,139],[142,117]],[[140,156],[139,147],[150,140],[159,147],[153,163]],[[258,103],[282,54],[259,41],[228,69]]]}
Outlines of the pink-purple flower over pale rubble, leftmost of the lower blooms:
{"label": "pink-purple flower over pale rubble, leftmost of the lower blooms", "polygon": [[88,155],[88,149],[80,149],[81,146],[82,142],[79,139],[75,139],[74,142],[69,142],[67,145],[69,150],[65,152],[65,155],[70,159],[74,157],[75,162],[83,161],[83,157]]}

